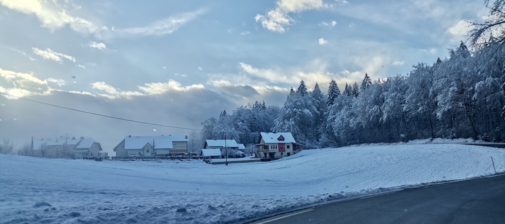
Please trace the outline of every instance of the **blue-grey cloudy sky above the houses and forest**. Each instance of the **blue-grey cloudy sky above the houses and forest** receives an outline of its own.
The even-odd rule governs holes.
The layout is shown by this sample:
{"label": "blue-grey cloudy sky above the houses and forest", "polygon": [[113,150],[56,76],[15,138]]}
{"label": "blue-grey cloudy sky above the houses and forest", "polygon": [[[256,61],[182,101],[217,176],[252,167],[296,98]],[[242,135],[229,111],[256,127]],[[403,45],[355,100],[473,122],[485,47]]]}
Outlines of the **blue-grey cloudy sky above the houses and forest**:
{"label": "blue-grey cloudy sky above the houses and forest", "polygon": [[327,91],[408,74],[466,41],[475,0],[0,0],[0,137],[192,134],[222,110],[282,106],[301,80]]}

